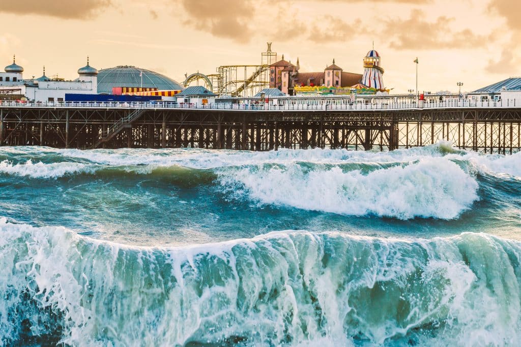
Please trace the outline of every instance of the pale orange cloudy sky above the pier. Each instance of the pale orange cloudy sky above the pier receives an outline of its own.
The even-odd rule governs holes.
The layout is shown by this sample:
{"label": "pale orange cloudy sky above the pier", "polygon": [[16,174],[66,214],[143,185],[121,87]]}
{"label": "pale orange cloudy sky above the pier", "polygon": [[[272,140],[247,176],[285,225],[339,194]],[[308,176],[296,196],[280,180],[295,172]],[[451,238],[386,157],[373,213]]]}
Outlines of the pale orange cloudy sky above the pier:
{"label": "pale orange cloudy sky above the pier", "polygon": [[182,82],[261,63],[266,42],[300,71],[333,58],[363,73],[373,46],[392,93],[457,92],[521,75],[518,0],[0,0],[0,66],[24,78],[134,65]]}

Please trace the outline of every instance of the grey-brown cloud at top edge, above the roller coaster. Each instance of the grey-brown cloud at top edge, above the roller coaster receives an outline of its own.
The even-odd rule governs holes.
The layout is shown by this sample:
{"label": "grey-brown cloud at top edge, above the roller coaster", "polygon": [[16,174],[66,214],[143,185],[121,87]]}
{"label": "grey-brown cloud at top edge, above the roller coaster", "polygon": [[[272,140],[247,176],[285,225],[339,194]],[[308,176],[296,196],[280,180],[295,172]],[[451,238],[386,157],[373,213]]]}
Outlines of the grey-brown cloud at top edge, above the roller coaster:
{"label": "grey-brown cloud at top edge, above the roller coaster", "polygon": [[256,11],[252,0],[194,1],[176,0],[189,18],[184,24],[216,37],[229,38],[239,43],[250,41],[249,22]]}

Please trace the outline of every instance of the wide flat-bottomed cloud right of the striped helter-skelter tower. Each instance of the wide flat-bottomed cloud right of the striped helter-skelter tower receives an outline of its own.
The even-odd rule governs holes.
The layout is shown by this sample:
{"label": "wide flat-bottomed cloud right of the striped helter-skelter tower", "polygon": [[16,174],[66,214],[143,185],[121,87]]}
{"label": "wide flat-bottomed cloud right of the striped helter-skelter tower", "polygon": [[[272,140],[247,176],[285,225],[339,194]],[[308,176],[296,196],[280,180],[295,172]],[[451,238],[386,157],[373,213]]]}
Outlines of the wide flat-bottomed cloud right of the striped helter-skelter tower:
{"label": "wide flat-bottomed cloud right of the striped helter-skelter tower", "polygon": [[441,16],[428,22],[425,17],[423,11],[414,9],[408,19],[387,20],[384,32],[391,37],[389,46],[396,49],[476,48],[492,39],[492,36],[476,35],[470,29],[452,30],[454,18]]}

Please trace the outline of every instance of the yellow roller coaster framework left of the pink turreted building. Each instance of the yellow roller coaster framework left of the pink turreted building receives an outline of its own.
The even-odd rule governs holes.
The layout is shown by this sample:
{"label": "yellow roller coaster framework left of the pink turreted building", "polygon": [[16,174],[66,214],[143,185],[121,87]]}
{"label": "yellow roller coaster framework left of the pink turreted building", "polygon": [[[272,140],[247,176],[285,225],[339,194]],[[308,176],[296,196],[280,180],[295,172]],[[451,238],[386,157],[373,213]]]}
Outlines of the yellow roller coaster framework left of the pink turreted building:
{"label": "yellow roller coaster framework left of the pink turreted building", "polygon": [[185,74],[184,87],[193,83],[204,82],[207,89],[221,96],[249,97],[269,87],[269,66],[277,61],[277,53],[271,52],[268,42],[266,52],[261,54],[261,65],[223,65],[215,74],[203,74],[197,71]]}

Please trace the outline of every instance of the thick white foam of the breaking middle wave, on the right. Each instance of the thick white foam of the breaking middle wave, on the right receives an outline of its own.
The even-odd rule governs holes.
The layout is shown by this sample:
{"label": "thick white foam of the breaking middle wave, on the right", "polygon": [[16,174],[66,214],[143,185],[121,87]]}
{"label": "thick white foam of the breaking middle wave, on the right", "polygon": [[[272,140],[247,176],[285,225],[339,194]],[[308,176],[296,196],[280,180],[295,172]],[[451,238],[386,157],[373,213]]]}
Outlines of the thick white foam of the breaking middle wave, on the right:
{"label": "thick white foam of the breaking middle wave, on the right", "polygon": [[478,199],[476,180],[444,158],[369,172],[340,167],[308,170],[293,164],[240,168],[220,174],[235,197],[265,204],[346,215],[453,219]]}

